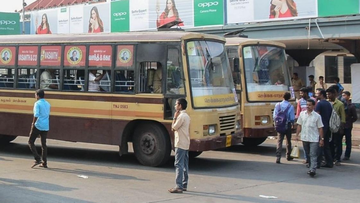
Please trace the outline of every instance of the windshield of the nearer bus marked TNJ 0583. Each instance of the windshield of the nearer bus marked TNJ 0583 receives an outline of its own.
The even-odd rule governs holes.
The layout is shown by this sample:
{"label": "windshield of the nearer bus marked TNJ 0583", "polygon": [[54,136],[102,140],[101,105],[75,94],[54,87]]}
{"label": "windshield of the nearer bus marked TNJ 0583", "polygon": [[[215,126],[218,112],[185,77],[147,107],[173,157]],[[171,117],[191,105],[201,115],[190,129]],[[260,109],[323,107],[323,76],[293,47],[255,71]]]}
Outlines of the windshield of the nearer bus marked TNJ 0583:
{"label": "windshield of the nearer bus marked TNJ 0583", "polygon": [[194,107],[236,105],[237,98],[225,46],[213,41],[186,43]]}

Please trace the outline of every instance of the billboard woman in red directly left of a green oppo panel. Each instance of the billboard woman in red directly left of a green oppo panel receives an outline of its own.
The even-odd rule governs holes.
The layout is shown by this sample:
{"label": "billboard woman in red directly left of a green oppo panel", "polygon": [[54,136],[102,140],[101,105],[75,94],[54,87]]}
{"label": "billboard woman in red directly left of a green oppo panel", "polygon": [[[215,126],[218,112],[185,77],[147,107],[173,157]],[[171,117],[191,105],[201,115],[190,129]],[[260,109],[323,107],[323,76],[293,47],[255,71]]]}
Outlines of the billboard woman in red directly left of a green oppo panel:
{"label": "billboard woman in red directly left of a green oppo panel", "polygon": [[[160,13],[160,7],[156,8],[157,20],[156,27],[160,27],[171,21],[181,21],[179,12],[177,12],[175,0],[167,0],[164,12]],[[179,23],[179,26],[184,26],[184,23]]]}

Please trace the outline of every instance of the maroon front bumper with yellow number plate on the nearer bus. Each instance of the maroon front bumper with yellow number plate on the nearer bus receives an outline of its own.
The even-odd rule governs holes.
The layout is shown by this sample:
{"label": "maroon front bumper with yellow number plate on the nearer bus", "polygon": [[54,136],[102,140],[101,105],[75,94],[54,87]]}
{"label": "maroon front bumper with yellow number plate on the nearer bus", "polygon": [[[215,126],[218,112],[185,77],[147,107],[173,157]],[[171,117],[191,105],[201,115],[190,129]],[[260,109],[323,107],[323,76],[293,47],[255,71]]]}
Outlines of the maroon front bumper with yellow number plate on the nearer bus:
{"label": "maroon front bumper with yellow number plate on the nearer bus", "polygon": [[[230,137],[231,137],[231,143]],[[220,136],[208,139],[190,139],[189,151],[209,151],[219,148],[229,147],[231,145],[243,142],[243,132],[241,130],[227,136]]]}

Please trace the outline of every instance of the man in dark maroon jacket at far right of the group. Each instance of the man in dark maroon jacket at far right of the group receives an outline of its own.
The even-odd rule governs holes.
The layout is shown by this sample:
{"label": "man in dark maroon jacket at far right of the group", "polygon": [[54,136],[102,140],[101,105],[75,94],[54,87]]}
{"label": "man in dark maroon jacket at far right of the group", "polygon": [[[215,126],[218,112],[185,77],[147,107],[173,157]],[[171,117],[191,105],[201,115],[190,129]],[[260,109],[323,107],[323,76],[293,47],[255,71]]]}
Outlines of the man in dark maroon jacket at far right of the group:
{"label": "man in dark maroon jacket at far right of the group", "polygon": [[[350,159],[351,154],[351,131],[352,131],[352,124],[357,120],[357,114],[355,106],[351,103],[350,100],[350,92],[344,91],[342,92],[342,98],[344,98],[347,102],[347,112],[345,112],[345,143],[346,143],[346,150],[345,150],[345,156],[342,160],[347,161]],[[343,138],[344,134],[341,136],[341,139]],[[342,154],[342,148],[341,152],[339,152],[340,156]]]}

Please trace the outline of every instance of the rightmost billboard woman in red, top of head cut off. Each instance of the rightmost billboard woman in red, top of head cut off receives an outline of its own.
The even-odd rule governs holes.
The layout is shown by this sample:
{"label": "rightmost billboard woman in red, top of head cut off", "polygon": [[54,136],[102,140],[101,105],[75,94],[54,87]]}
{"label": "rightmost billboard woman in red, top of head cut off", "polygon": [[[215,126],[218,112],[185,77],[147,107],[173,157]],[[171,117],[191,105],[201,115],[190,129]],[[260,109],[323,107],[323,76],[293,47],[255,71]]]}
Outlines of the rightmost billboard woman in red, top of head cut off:
{"label": "rightmost billboard woman in red, top of head cut off", "polygon": [[271,0],[269,18],[296,17],[297,10],[294,0]]}

